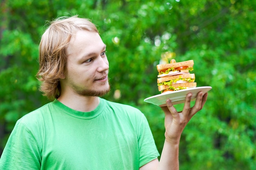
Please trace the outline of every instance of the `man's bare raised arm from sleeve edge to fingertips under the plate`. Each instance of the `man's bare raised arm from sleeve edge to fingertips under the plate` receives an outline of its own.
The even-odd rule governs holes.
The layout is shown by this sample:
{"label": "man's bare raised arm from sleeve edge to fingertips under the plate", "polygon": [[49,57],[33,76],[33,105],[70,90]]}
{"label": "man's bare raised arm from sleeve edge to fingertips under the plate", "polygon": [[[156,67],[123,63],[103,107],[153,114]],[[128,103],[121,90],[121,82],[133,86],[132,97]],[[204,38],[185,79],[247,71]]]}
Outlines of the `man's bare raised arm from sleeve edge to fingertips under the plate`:
{"label": "man's bare raised arm from sleeve edge to fingertips under the plate", "polygon": [[166,100],[166,107],[162,107],[165,113],[165,141],[160,161],[157,159],[142,166],[140,170],[179,170],[179,144],[182,131],[191,118],[200,111],[207,100],[207,93],[203,96],[198,93],[195,105],[190,108],[191,96],[186,96],[183,111],[177,112],[171,100]]}

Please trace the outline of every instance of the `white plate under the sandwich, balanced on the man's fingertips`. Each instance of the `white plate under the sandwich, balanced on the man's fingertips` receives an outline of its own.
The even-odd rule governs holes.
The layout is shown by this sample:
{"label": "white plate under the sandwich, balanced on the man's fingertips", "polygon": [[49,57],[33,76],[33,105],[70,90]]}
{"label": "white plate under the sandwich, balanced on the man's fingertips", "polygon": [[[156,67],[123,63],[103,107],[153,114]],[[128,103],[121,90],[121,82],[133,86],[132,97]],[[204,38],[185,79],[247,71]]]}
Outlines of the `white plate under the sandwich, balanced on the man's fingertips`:
{"label": "white plate under the sandwich, balanced on the man's fingertips", "polygon": [[144,102],[152,103],[157,106],[166,106],[166,100],[171,99],[173,105],[177,105],[185,102],[186,95],[192,93],[191,101],[196,99],[198,92],[202,91],[203,95],[206,94],[212,87],[193,87],[189,89],[177,90],[173,92],[164,92],[162,94],[157,94],[149,98],[144,99]]}

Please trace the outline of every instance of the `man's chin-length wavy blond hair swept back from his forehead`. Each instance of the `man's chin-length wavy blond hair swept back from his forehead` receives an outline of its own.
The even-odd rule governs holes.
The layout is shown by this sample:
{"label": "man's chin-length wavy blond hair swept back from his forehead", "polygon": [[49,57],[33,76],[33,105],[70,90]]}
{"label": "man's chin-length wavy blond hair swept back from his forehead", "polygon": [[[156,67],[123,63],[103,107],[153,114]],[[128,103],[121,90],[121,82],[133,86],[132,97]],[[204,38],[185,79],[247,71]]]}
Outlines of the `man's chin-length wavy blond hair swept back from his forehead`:
{"label": "man's chin-length wavy blond hair swept back from his forehead", "polygon": [[72,35],[78,30],[99,33],[90,20],[76,15],[60,17],[50,22],[42,35],[39,45],[39,71],[36,76],[41,81],[40,91],[50,100],[61,95],[60,78],[65,70],[65,51]]}

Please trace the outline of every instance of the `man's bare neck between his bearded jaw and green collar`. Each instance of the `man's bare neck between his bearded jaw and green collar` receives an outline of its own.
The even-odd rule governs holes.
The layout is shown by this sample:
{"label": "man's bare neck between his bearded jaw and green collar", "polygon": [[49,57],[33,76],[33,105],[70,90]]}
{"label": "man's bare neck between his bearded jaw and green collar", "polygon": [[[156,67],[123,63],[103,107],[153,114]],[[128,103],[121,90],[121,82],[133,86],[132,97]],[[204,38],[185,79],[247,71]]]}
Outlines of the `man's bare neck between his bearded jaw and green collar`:
{"label": "man's bare neck between his bearded jaw and green collar", "polygon": [[61,95],[58,101],[71,109],[88,112],[93,111],[99,105],[97,96],[64,96]]}

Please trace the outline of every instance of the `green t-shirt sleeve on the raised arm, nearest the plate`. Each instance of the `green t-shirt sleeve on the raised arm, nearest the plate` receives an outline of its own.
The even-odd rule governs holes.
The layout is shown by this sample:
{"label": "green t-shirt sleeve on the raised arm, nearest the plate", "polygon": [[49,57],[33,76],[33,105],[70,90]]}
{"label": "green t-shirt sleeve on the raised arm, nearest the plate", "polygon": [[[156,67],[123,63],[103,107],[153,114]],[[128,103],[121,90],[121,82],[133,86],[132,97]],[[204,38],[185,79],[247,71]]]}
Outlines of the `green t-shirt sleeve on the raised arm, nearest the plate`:
{"label": "green t-shirt sleeve on the raised arm, nearest the plate", "polygon": [[143,114],[138,131],[139,167],[141,167],[146,163],[156,159],[159,156],[159,152],[155,145],[155,140],[148,125],[148,121]]}

